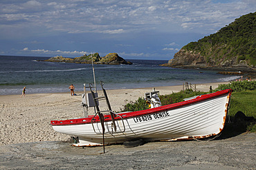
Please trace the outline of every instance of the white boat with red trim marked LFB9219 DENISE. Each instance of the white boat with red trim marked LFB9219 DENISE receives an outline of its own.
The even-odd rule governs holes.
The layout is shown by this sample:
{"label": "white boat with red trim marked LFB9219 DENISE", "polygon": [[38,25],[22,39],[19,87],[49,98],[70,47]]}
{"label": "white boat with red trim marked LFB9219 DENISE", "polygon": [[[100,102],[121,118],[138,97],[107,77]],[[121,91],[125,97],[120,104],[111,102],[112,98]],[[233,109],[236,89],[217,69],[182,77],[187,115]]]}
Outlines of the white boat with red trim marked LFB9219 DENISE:
{"label": "white boat with red trim marked LFB9219 DENISE", "polygon": [[[91,89],[91,85],[90,85]],[[53,129],[62,134],[77,136],[74,146],[100,146],[122,143],[127,140],[185,140],[217,136],[226,122],[231,89],[189,98],[180,103],[161,106],[158,93],[146,95],[151,109],[114,113],[107,94],[103,97],[93,92],[91,96],[95,116],[70,120],[51,120]],[[106,99],[108,110],[100,111],[98,100]],[[89,107],[90,98],[84,104]]]}

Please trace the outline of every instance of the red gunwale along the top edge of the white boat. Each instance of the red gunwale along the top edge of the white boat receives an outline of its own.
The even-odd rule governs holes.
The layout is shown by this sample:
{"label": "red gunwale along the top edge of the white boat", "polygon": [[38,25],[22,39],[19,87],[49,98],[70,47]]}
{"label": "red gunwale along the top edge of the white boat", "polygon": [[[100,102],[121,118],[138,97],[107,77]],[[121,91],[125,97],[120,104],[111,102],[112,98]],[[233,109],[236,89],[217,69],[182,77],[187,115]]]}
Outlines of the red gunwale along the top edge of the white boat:
{"label": "red gunwale along the top edge of the white boat", "polygon": [[[203,94],[201,96],[197,96],[194,99],[182,101],[179,103],[172,103],[170,105],[163,105],[161,107],[156,107],[156,108],[152,108],[152,109],[120,113],[120,114],[118,114],[119,116],[117,116],[115,118],[115,120],[121,120],[121,117],[123,120],[125,120],[125,119],[129,119],[129,118],[135,118],[135,117],[139,117],[139,116],[155,114],[155,113],[159,113],[162,111],[169,111],[172,109],[177,109],[180,107],[192,105],[194,103],[199,103],[204,100],[217,98],[217,97],[223,96],[225,94],[229,94],[228,96],[230,96],[231,92],[232,92],[232,89],[224,89],[219,92],[214,92],[212,94]],[[99,116],[95,116],[94,118],[93,117],[94,116],[89,116],[88,118],[73,118],[73,119],[67,119],[67,120],[51,120],[51,125],[52,126],[64,126],[64,125],[83,125],[83,124],[91,124],[91,123],[100,123]],[[93,121],[92,121],[92,118],[94,119]],[[111,121],[110,114],[104,115],[104,122],[109,122],[109,121]]]}

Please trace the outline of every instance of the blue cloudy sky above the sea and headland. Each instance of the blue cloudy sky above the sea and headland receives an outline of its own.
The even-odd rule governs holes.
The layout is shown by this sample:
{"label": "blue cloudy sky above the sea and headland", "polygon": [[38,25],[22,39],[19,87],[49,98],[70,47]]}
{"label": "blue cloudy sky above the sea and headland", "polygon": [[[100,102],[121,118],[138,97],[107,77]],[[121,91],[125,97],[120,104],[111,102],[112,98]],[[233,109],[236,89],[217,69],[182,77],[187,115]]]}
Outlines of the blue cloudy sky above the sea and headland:
{"label": "blue cloudy sky above the sea and headland", "polygon": [[170,60],[256,0],[1,0],[0,55]]}

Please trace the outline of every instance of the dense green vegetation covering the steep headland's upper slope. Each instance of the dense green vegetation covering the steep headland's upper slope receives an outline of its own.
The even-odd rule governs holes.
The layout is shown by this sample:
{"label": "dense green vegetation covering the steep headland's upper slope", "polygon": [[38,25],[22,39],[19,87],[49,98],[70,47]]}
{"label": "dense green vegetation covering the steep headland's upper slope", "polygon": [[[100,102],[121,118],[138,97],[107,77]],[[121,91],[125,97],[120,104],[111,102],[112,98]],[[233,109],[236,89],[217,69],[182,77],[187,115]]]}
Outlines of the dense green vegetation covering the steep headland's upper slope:
{"label": "dense green vegetation covering the steep headland's upper slope", "polygon": [[237,58],[256,65],[256,12],[246,14],[221,28],[217,33],[188,43],[182,49],[200,53],[207,63],[219,64],[221,59]]}

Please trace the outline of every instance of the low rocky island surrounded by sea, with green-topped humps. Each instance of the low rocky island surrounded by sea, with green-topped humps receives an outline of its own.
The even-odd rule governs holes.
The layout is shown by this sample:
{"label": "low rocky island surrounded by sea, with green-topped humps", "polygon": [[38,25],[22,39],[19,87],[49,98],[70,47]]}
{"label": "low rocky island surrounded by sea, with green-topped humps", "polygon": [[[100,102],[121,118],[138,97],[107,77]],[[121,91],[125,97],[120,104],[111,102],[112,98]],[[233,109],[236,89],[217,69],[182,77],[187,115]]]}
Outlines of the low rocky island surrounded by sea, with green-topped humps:
{"label": "low rocky island surrounded by sea, with green-topped humps", "polygon": [[72,58],[66,58],[63,56],[54,56],[50,59],[44,60],[48,62],[64,62],[64,63],[83,63],[83,64],[91,64],[91,60],[93,60],[93,63],[95,64],[111,64],[111,65],[131,65],[132,63],[129,61],[125,61],[125,59],[122,59],[122,57],[118,56],[116,53],[109,53],[107,56],[100,57],[98,52],[90,55],[84,54],[80,57]]}

